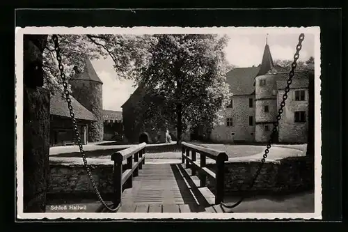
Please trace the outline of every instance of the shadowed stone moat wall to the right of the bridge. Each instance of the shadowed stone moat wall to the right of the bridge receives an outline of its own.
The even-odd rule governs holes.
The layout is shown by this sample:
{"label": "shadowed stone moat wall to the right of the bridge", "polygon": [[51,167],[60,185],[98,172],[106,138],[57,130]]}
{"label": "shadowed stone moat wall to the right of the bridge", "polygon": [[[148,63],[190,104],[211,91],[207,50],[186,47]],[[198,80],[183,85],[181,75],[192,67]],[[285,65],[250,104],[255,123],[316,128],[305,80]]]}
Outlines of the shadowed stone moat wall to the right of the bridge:
{"label": "shadowed stone moat wall to the right of the bridge", "polygon": [[[260,162],[229,162],[225,167],[225,194],[238,195],[242,187],[251,182]],[[207,164],[214,170],[214,164]],[[207,187],[214,191],[214,180],[207,179]],[[266,162],[260,176],[251,188],[258,194],[285,194],[314,189],[314,163],[308,157],[288,157],[280,161]]]}

